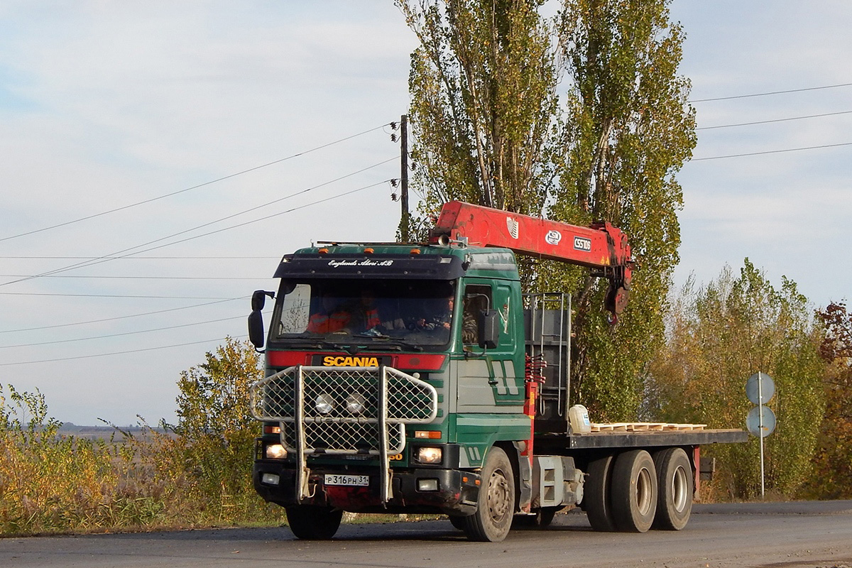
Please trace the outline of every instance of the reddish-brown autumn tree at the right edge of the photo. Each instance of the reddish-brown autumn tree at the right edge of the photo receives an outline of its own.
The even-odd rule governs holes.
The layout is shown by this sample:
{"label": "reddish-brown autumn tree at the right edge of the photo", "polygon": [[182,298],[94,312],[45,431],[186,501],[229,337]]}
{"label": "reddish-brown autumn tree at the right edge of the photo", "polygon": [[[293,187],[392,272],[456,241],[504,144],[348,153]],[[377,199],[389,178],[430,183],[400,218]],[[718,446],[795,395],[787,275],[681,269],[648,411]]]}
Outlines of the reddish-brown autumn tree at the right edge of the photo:
{"label": "reddish-brown autumn tree at the right edge of the photo", "polygon": [[817,317],[826,326],[820,345],[820,355],[828,365],[826,413],[806,495],[852,499],[852,314],[839,302],[829,304]]}

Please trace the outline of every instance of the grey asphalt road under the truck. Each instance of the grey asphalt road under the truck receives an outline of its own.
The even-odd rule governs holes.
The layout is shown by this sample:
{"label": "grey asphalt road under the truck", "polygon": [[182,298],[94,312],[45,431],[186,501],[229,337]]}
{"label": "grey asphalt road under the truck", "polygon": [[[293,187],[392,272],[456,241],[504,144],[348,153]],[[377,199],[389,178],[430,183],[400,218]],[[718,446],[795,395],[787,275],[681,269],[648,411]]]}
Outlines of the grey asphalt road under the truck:
{"label": "grey asphalt road under the truck", "polygon": [[697,505],[686,529],[600,533],[585,514],[504,542],[467,542],[449,521],[343,525],[334,540],[287,529],[227,529],[0,539],[0,566],[766,566],[852,568],[852,502]]}

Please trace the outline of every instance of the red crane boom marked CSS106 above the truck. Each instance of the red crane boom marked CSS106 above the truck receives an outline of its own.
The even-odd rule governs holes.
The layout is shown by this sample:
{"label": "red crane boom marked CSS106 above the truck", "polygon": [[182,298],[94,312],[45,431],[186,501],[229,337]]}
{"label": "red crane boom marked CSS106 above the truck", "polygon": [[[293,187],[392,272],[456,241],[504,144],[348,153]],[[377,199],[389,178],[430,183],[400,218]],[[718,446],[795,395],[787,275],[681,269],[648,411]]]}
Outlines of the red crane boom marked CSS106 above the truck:
{"label": "red crane boom marked CSS106 above the truck", "polygon": [[467,241],[473,246],[504,247],[517,254],[590,267],[609,280],[606,307],[621,313],[627,304],[634,267],[625,232],[608,221],[590,227],[450,201],[440,210],[429,244]]}

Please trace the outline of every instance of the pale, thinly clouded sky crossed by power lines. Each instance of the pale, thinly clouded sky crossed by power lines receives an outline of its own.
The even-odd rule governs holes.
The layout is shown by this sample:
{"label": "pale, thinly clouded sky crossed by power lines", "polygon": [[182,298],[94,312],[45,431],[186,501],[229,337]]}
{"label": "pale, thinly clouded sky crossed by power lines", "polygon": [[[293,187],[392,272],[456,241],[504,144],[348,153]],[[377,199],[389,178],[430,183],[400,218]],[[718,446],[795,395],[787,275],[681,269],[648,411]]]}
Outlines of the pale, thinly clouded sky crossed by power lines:
{"label": "pale, thinly clouded sky crossed by power lines", "polygon": [[[852,3],[671,17],[699,126],[676,286],[748,257],[814,307],[848,299]],[[174,422],[181,371],[245,337],[281,255],[393,240],[416,45],[390,0],[0,0],[4,392],[64,422]]]}

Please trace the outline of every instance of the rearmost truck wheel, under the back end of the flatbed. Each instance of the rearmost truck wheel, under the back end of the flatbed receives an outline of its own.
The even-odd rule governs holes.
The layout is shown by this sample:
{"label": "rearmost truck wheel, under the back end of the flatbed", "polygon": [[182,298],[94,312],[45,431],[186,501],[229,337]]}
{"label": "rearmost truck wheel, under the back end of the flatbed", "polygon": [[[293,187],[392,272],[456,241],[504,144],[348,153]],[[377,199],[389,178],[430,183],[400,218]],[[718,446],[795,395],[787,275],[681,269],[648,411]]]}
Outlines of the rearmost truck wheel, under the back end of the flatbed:
{"label": "rearmost truck wheel, under the back end of the flatbed", "polygon": [[653,528],[680,531],[692,513],[693,468],[681,448],[660,450],[653,455],[657,468],[657,516]]}

